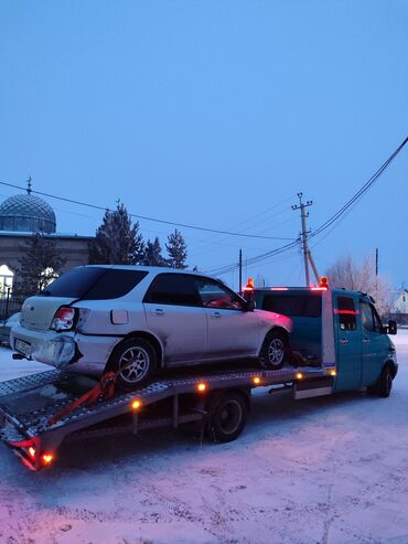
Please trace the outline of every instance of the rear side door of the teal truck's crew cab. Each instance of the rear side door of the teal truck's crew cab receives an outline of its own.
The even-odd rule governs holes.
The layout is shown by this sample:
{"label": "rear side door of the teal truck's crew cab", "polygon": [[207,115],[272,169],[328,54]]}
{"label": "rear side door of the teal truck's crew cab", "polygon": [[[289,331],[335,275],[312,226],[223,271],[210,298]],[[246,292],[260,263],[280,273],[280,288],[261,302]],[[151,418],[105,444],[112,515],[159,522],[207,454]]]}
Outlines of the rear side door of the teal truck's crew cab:
{"label": "rear side door of the teal truck's crew cab", "polygon": [[334,390],[357,390],[362,386],[363,344],[356,300],[351,296],[336,295],[334,318],[337,360]]}

